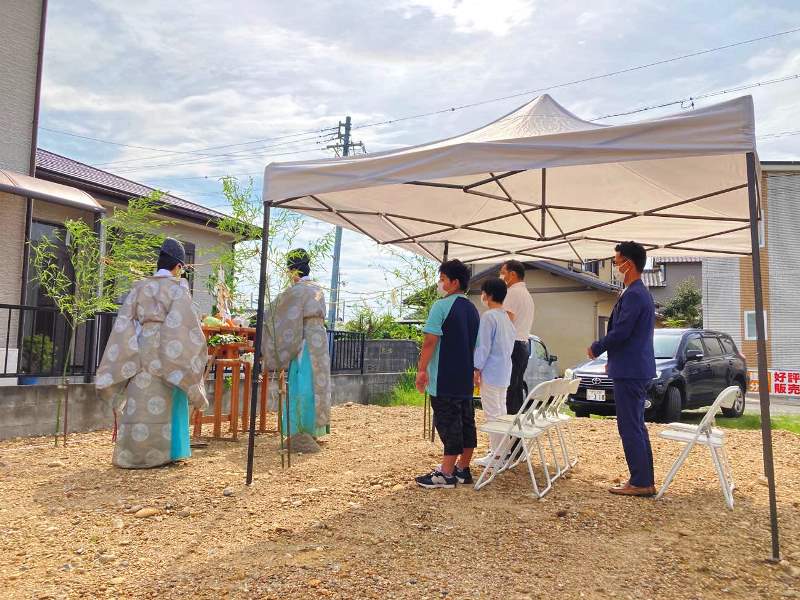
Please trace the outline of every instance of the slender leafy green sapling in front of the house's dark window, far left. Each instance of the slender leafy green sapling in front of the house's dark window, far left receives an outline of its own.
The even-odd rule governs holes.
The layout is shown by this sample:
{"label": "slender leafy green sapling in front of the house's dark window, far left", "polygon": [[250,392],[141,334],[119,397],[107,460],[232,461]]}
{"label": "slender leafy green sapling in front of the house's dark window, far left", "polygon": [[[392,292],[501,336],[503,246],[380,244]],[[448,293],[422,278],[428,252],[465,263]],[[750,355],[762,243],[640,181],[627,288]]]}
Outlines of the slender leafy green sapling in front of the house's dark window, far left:
{"label": "slender leafy green sapling in front of the house's dark window, far left", "polygon": [[[67,322],[70,332],[69,346],[64,357],[61,385],[64,389],[64,413],[69,406],[69,387],[67,375],[75,355],[75,334],[80,325],[103,311],[114,310],[115,282],[103,275],[101,264],[100,238],[81,220],[68,219],[64,222],[66,234],[57,233],[57,240],[66,249],[66,258],[74,277],[59,264],[61,253],[56,241],[43,237],[31,244],[31,262],[36,271],[39,286],[55,303],[58,311]],[[58,445],[58,430],[61,419],[61,396],[56,403],[56,427],[54,443]],[[64,444],[67,440],[64,428]]]}

